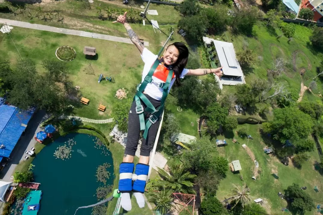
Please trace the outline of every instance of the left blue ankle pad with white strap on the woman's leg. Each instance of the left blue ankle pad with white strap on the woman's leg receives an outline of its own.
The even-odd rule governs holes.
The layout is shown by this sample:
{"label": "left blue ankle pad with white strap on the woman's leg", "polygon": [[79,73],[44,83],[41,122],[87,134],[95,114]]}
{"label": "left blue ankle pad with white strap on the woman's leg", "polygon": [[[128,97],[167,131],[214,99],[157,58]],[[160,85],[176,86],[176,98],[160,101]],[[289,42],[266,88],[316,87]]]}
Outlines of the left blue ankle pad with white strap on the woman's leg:
{"label": "left blue ankle pad with white strap on the woman's leg", "polygon": [[[132,191],[132,173],[135,165],[133,163],[122,162],[120,163],[119,173],[119,191],[131,192]],[[128,173],[128,174],[127,174]]]}

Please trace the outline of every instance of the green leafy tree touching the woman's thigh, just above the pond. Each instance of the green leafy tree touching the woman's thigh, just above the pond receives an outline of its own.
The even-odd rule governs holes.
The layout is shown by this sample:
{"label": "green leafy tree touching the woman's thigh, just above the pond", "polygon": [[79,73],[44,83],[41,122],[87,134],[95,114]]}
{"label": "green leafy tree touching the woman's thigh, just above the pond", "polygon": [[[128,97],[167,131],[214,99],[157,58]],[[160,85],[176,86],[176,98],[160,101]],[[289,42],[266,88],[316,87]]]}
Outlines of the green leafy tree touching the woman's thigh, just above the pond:
{"label": "green leafy tree touching the woman's thigh, just above the pond", "polygon": [[130,110],[130,99],[123,99],[112,108],[111,117],[118,124],[118,130],[126,133],[128,131],[128,116]]}

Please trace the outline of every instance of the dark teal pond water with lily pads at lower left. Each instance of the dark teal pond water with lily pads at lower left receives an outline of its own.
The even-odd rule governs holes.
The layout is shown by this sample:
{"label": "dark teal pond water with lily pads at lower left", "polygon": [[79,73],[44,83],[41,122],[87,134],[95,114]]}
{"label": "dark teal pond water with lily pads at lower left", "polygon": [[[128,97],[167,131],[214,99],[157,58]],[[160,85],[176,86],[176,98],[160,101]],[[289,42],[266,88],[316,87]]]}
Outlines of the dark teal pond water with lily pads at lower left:
{"label": "dark teal pond water with lily pads at lower left", "polygon": [[[98,202],[97,188],[111,185],[114,179],[111,152],[100,143],[94,136],[70,133],[36,155],[32,171],[34,181],[41,183],[39,190],[43,191],[38,215],[73,215],[78,207]],[[71,147],[70,157],[64,160],[54,156],[57,147],[63,145]],[[97,169],[104,163],[111,164],[101,166],[101,171],[110,172],[106,185],[97,179]],[[92,208],[80,209],[77,215],[91,212]]]}

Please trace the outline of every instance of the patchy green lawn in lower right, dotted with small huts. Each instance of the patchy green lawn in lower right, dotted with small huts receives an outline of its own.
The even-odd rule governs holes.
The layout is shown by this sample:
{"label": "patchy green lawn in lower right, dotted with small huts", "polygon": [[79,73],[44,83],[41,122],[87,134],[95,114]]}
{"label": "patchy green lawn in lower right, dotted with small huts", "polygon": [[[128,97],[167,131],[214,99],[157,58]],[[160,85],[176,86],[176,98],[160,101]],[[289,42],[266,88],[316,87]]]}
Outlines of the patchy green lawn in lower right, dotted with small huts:
{"label": "patchy green lawn in lower right, dotted with small huts", "polygon": [[[254,161],[242,147],[242,144],[247,144],[247,139],[239,138],[236,133],[235,138],[238,139],[239,143],[232,143],[231,139],[225,138],[224,136],[218,137],[219,139],[225,138],[228,142],[227,146],[218,148],[219,153],[227,158],[229,162],[233,160],[240,161],[242,167],[240,174],[250,188],[253,199],[264,199],[266,202],[264,207],[269,214],[284,214],[280,209],[286,207],[287,202],[278,198],[278,190],[272,187],[285,190],[292,183],[297,183],[300,186],[306,186],[308,188],[306,192],[311,198],[321,200],[323,193],[316,193],[314,191],[314,186],[318,186],[319,188],[323,186],[322,176],[318,171],[314,170],[314,162],[319,161],[318,152],[310,152],[310,160],[303,164],[300,170],[295,168],[291,162],[289,162],[288,166],[285,166],[275,155],[266,155],[264,153],[263,148],[266,145],[259,134],[260,126],[244,124],[239,125],[237,128],[238,130],[241,127],[245,127],[248,134],[254,138],[254,140],[249,140],[248,147],[254,154],[255,159],[259,162],[259,170],[261,170],[256,181],[251,179],[254,175]],[[279,176],[279,179],[276,180],[272,174]],[[227,171],[227,177],[221,181],[220,188],[217,192],[217,197],[220,200],[224,200],[225,197],[227,198],[230,195],[230,191],[233,188],[232,183],[241,185],[242,181],[239,174],[233,174],[231,171]],[[317,205],[315,202],[314,204]],[[314,214],[313,211],[316,210],[313,208],[311,212],[307,212],[306,214]]]}

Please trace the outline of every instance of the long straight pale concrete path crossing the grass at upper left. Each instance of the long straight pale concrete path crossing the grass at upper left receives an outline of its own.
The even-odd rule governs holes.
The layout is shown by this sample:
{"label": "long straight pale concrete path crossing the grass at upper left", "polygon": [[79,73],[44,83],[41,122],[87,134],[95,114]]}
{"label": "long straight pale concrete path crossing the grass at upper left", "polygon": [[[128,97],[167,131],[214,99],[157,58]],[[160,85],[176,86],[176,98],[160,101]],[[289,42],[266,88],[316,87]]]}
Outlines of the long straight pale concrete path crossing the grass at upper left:
{"label": "long straight pale concrete path crossing the grass at upper left", "polygon": [[[101,40],[109,40],[114,42],[132,44],[129,38],[110,36],[105,34],[97,34],[97,33],[91,33],[86,31],[77,31],[77,30],[71,30],[66,28],[57,28],[57,27],[52,27],[52,26],[43,25],[43,24],[31,24],[27,22],[21,22],[21,21],[10,20],[10,19],[2,19],[2,18],[0,18],[0,23],[7,23],[8,25],[22,27],[22,28],[30,28],[35,30],[50,31],[50,32],[56,32],[61,34],[70,34],[70,35],[76,35],[76,36],[83,36],[83,37],[90,37],[90,38],[96,38]],[[145,41],[144,45],[149,46],[149,43]]]}

